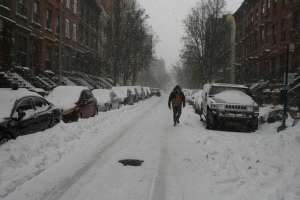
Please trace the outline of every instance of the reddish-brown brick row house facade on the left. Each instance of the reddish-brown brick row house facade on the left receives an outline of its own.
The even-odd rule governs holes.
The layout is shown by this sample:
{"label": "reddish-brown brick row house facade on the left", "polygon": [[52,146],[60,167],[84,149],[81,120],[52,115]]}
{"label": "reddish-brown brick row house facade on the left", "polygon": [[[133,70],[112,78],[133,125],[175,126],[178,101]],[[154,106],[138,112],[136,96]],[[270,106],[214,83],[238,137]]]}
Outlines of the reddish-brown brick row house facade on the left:
{"label": "reddish-brown brick row house facade on the left", "polygon": [[58,72],[62,45],[62,70],[100,71],[104,13],[99,0],[0,0],[0,70]]}

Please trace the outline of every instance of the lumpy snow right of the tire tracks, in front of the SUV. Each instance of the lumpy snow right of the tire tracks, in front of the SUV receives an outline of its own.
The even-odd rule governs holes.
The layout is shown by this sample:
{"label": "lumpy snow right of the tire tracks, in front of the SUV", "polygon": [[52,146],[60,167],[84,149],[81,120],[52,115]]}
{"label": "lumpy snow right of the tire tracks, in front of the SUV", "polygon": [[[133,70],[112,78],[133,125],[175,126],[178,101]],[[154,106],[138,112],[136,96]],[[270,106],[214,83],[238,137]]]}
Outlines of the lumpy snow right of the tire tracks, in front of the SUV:
{"label": "lumpy snow right of the tire tracks, in front of the SUV", "polygon": [[181,121],[169,134],[166,199],[300,199],[300,124],[249,134],[208,131],[192,110]]}

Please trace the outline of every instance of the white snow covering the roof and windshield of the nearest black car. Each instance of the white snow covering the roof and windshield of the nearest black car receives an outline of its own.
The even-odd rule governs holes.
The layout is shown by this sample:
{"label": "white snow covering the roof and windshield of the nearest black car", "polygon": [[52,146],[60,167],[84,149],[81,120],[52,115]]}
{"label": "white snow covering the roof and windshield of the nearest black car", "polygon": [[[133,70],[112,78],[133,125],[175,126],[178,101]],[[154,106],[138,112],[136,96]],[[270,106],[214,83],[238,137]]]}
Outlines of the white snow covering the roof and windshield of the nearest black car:
{"label": "white snow covering the roof and windshield of the nearest black car", "polygon": [[0,121],[10,117],[11,111],[15,105],[16,100],[27,96],[42,97],[35,92],[30,92],[25,88],[12,90],[10,88],[0,88]]}

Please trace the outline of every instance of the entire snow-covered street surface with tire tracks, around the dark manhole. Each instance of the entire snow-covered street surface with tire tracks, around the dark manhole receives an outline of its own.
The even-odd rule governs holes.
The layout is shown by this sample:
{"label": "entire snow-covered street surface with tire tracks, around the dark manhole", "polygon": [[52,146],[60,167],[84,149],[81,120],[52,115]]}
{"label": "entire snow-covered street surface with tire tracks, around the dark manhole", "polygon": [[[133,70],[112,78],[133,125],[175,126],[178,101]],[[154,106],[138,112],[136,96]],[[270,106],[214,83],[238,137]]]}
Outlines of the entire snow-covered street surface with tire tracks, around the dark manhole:
{"label": "entire snow-covered street surface with tire tracks, around the dark manhole", "polygon": [[[59,124],[0,147],[0,199],[299,200],[300,126],[207,131],[191,107],[172,126],[166,98]],[[139,167],[121,159],[140,159]]]}

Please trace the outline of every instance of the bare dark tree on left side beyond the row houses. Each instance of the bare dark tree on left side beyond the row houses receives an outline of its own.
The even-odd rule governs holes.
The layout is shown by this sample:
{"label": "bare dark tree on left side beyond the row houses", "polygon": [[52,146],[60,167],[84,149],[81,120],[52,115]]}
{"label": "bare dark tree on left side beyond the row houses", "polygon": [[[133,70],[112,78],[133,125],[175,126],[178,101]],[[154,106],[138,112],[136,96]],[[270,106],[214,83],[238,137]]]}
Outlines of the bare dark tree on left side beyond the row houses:
{"label": "bare dark tree on left side beyond the row houses", "polygon": [[111,66],[115,84],[137,80],[138,73],[149,67],[153,55],[152,33],[146,23],[148,16],[136,0],[113,1],[111,37],[106,45],[107,64]]}

